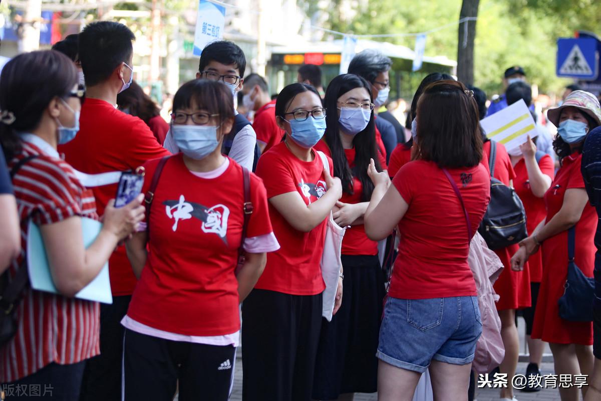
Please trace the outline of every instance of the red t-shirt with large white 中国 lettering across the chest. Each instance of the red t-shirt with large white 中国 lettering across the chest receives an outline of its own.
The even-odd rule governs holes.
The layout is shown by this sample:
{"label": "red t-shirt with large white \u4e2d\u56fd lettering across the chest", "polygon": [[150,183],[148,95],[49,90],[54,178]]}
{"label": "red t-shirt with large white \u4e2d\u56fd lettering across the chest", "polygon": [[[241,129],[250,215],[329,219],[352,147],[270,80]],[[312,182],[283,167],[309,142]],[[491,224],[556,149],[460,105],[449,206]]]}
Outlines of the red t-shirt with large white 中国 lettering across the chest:
{"label": "red t-shirt with large white \u4e2d\u56fd lettering across the chest", "polygon": [[[144,165],[148,191],[158,160]],[[247,237],[272,233],[261,179],[251,174],[254,210]],[[169,159],[150,213],[148,259],[127,316],[184,335],[225,335],[240,329],[234,275],[244,222],[242,168],[230,159],[215,179],[192,174],[182,154]]]}

